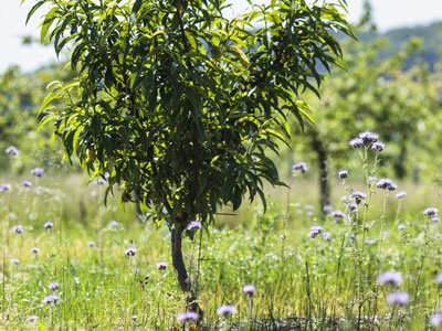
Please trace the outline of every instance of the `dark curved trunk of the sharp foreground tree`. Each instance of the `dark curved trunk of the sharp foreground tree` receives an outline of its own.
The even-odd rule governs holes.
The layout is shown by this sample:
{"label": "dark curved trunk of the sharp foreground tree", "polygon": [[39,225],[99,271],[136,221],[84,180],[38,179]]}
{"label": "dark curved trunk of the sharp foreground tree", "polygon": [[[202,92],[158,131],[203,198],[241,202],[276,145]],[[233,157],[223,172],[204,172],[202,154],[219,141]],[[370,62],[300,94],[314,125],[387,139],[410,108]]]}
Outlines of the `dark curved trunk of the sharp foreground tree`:
{"label": "dark curved trunk of the sharp foreground tree", "polygon": [[182,232],[185,227],[178,222],[176,227],[171,229],[171,254],[173,268],[178,274],[178,284],[181,290],[188,295],[187,297],[187,309],[194,311],[199,314],[199,319],[202,319],[202,310],[197,302],[197,296],[192,291],[192,285],[190,277],[187,273],[185,259],[182,258]]}

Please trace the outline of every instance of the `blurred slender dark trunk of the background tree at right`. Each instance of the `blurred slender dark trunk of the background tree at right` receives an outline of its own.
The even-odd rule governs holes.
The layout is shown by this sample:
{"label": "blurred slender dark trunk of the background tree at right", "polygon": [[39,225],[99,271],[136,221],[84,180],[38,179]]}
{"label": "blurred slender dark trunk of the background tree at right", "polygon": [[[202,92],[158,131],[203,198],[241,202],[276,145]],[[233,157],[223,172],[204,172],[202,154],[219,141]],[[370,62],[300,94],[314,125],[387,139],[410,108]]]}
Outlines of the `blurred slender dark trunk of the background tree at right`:
{"label": "blurred slender dark trunk of the background tree at right", "polygon": [[319,202],[322,220],[325,220],[326,212],[324,207],[330,204],[330,186],[328,183],[328,167],[327,167],[327,152],[324,143],[315,134],[312,140],[312,147],[316,152],[319,168]]}

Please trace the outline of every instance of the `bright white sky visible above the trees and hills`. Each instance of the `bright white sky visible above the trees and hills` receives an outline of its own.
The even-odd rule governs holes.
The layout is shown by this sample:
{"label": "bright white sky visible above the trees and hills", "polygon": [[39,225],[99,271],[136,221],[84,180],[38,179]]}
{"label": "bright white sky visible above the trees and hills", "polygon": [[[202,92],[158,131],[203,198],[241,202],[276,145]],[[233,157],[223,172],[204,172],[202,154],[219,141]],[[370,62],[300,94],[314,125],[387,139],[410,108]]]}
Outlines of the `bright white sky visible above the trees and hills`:
{"label": "bright white sky visible above the trees and hills", "polygon": [[[245,0],[230,0],[234,11],[244,11]],[[256,0],[255,3],[269,0]],[[22,38],[33,35],[39,38],[39,21],[44,11],[36,12],[28,26],[24,22],[27,13],[35,0],[1,0],[0,10],[0,72],[17,64],[23,71],[33,71],[56,60],[51,46],[38,43],[22,45]],[[355,22],[362,12],[364,0],[347,0],[348,20]],[[371,0],[373,18],[379,31],[400,26],[412,26],[442,21],[442,0]]]}

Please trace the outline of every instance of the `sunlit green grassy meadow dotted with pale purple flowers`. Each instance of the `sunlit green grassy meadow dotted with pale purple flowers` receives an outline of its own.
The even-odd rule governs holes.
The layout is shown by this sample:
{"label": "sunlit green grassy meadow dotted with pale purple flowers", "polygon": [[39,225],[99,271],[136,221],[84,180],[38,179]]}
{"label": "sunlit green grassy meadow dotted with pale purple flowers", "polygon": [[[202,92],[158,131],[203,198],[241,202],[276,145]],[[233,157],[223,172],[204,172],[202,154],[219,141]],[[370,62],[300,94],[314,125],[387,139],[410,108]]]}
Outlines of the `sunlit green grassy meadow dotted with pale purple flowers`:
{"label": "sunlit green grassy meadow dotted with pale purple flowers", "polygon": [[[372,167],[362,160],[361,174],[364,162]],[[257,203],[231,215],[227,210],[209,232],[188,232],[185,259],[204,314],[198,325],[177,321],[186,298],[171,266],[166,224],[151,224],[133,204],[122,209],[117,197],[104,206],[105,182],[87,184],[70,172],[6,173],[0,328],[436,328],[442,229],[436,215],[423,212],[439,205],[440,186],[399,183],[390,191],[372,182],[355,204],[355,189],[364,190],[364,177],[351,178],[356,173],[335,175],[334,203],[324,221],[314,177],[295,172],[291,190],[267,190],[265,213]],[[398,199],[400,191],[407,195]],[[343,202],[349,194],[352,204]],[[386,271],[401,277],[381,280]],[[253,296],[243,292],[248,284],[256,288]],[[235,312],[219,316],[217,308],[227,303]]]}

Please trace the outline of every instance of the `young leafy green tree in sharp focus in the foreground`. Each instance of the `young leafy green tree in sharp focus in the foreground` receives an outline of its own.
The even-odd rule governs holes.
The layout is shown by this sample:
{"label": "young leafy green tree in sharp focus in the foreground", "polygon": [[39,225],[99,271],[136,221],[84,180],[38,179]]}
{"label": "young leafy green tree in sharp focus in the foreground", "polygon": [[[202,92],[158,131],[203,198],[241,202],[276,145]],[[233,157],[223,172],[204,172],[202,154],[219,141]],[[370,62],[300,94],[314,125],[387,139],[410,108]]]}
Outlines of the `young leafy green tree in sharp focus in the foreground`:
{"label": "young leafy green tree in sharp focus in the foreground", "polygon": [[245,195],[265,205],[263,181],[282,184],[267,151],[288,143],[290,114],[311,119],[296,97],[317,94],[319,64],[339,64],[334,31],[352,35],[345,1],[317,2],[272,0],[232,19],[224,0],[40,0],[29,13],[49,6],[42,42],[69,49],[77,74],[53,85],[42,124],[93,178],[109,174],[106,195],[117,186],[167,222],[185,292],[186,227]]}

